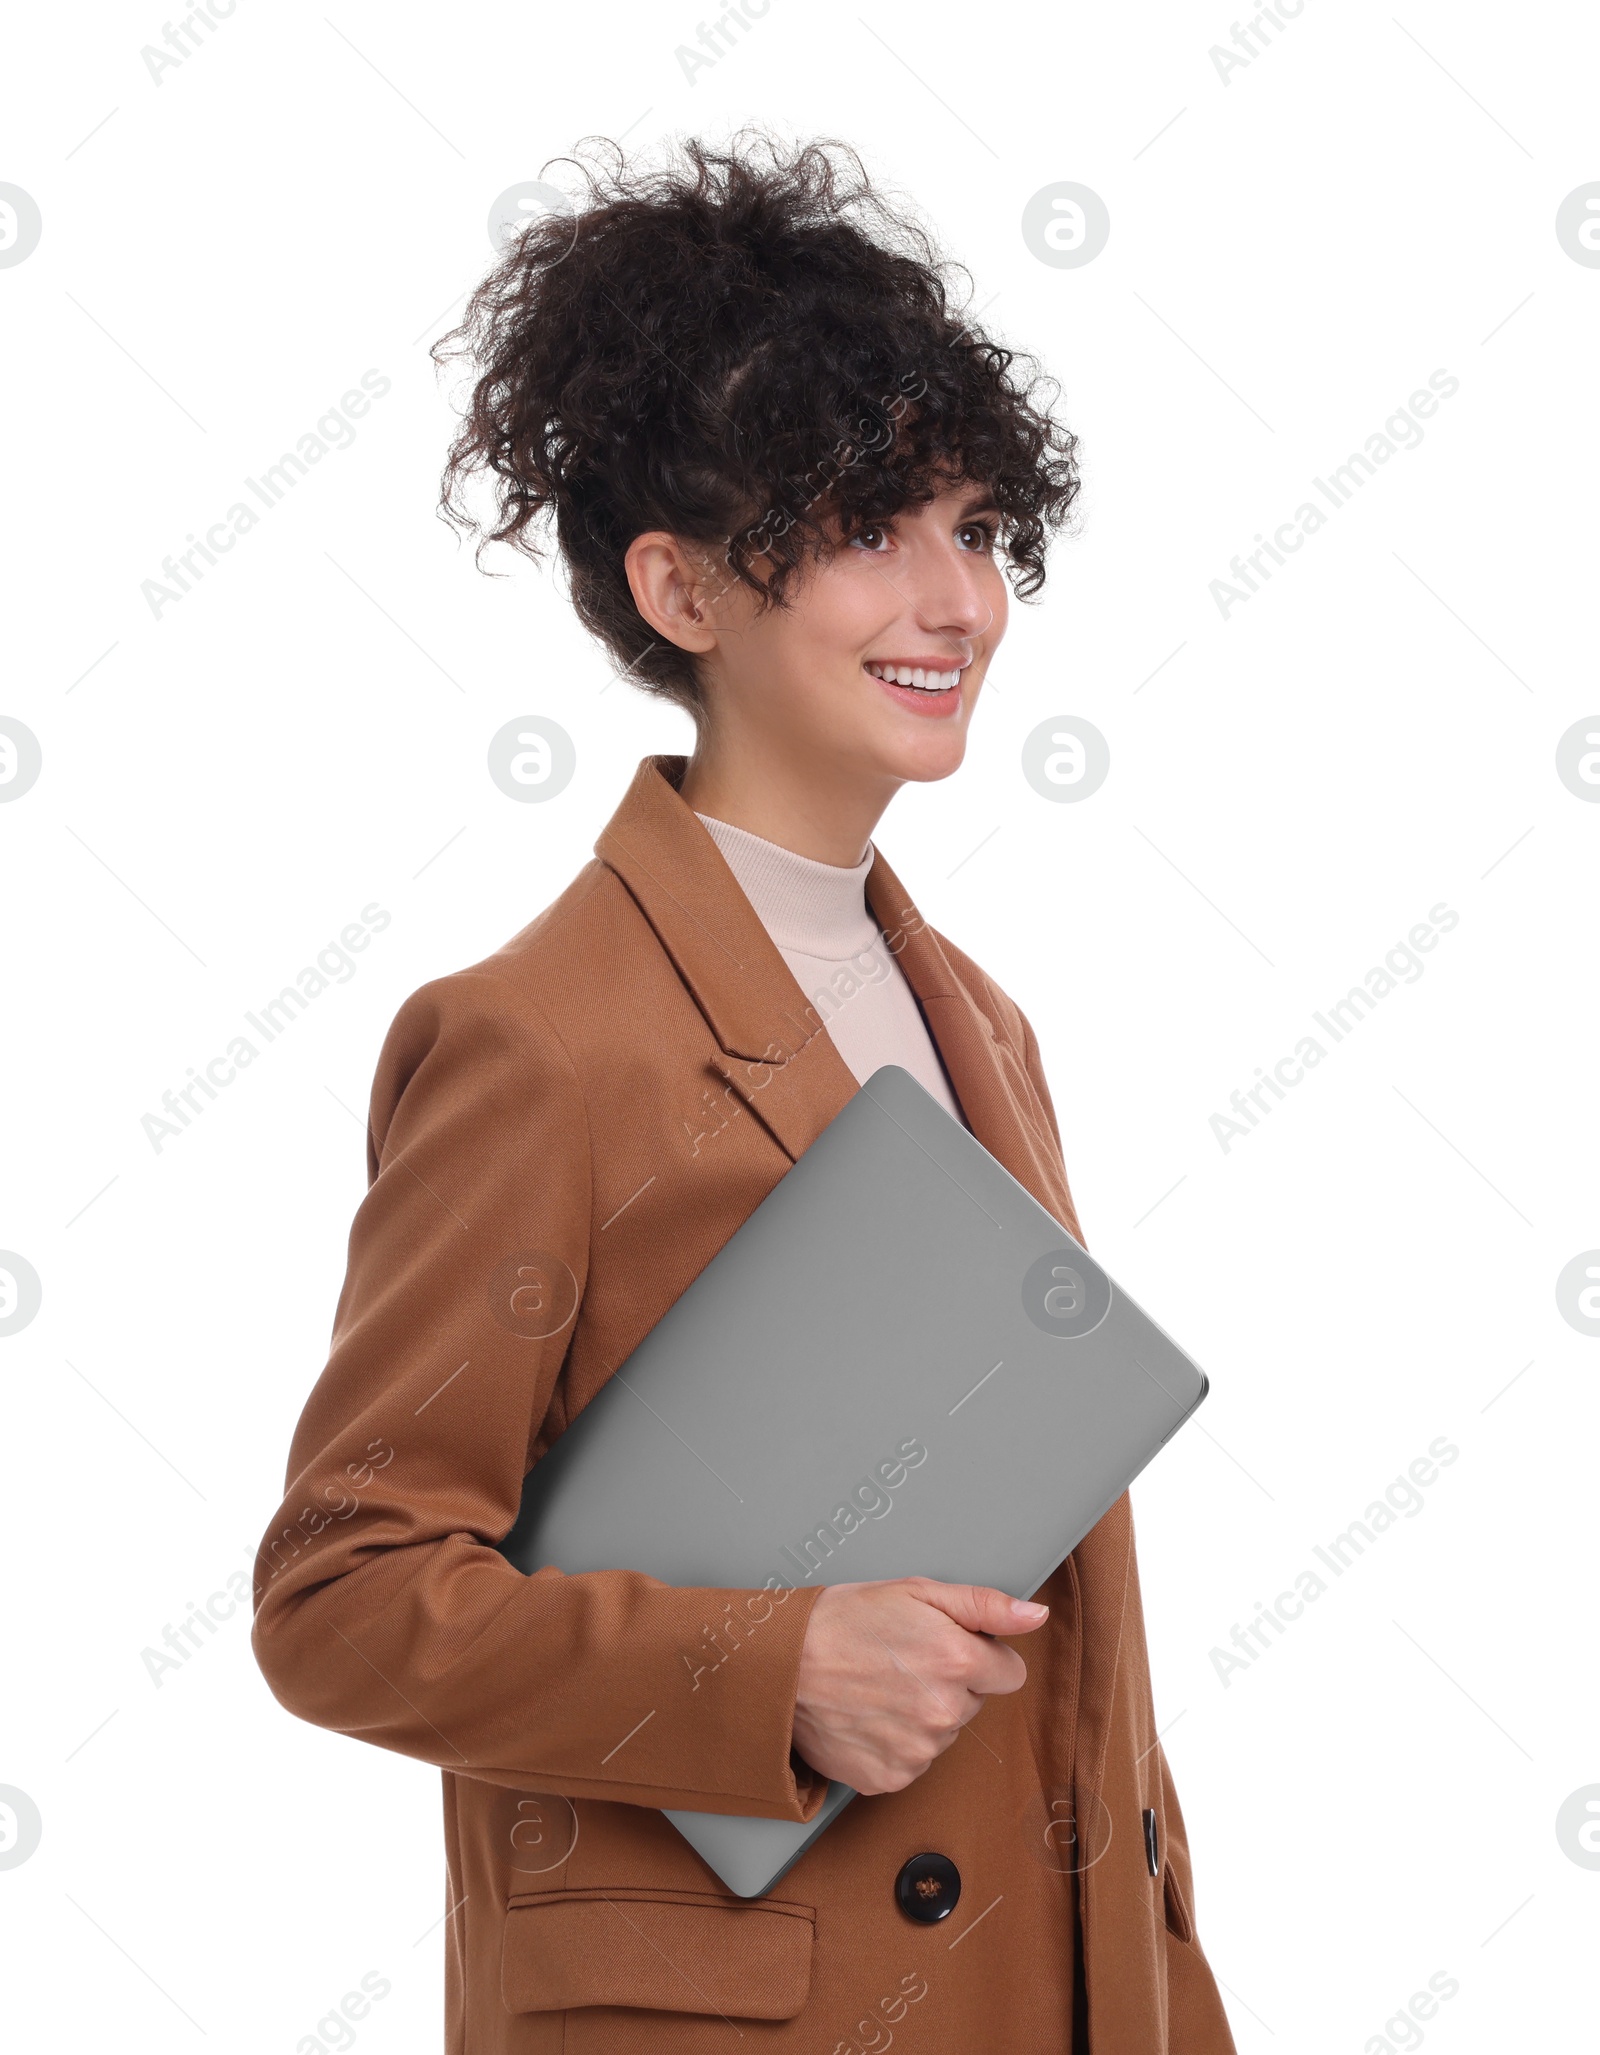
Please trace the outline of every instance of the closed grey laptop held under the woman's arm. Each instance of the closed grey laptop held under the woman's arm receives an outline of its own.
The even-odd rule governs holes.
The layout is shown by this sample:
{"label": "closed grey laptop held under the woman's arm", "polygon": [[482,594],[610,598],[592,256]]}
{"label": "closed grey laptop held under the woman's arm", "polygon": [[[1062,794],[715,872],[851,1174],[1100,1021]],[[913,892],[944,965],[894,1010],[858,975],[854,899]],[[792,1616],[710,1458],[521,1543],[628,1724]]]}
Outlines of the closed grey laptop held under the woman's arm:
{"label": "closed grey laptop held under the woman's arm", "polygon": [[[887,1064],[534,1465],[501,1552],[682,1586],[932,1576],[1025,1599],[1206,1389]],[[832,1784],[803,1825],[665,1817],[760,1897],[852,1796]]]}

